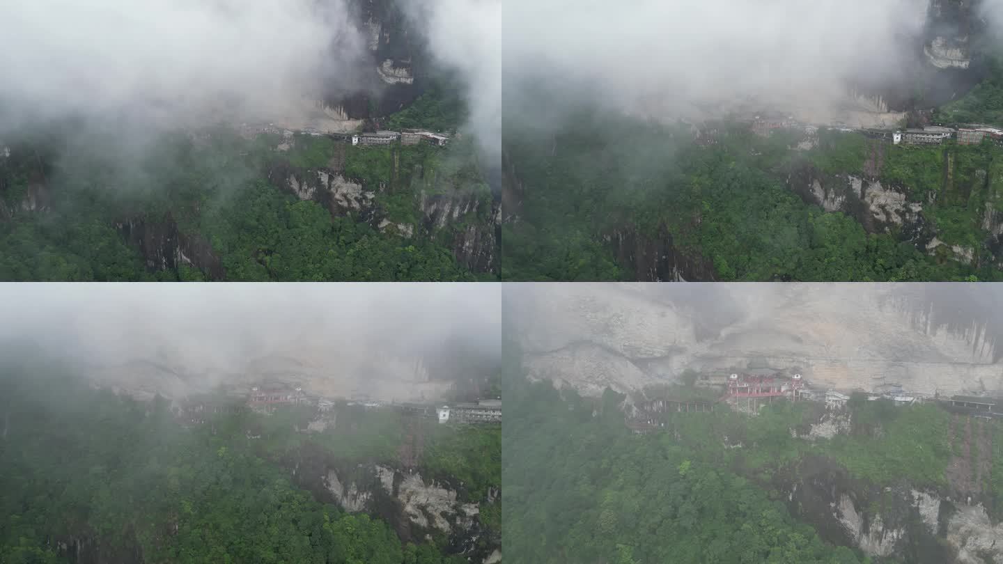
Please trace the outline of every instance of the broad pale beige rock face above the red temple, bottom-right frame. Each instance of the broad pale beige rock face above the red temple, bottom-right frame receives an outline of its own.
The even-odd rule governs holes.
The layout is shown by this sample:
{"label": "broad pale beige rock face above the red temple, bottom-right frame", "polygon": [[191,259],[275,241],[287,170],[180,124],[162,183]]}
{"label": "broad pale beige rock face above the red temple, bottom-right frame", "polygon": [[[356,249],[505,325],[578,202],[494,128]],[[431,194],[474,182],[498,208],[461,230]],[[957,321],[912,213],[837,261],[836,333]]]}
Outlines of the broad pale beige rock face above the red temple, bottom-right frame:
{"label": "broad pale beige rock face above the red temple, bottom-right frame", "polygon": [[[606,386],[625,391],[674,381],[686,368],[716,372],[753,363],[800,372],[821,389],[870,391],[874,376],[885,376],[931,395],[1003,390],[1003,304],[991,287],[704,290],[701,298],[673,296],[672,287],[616,284],[506,288],[507,323],[531,377],[589,395]],[[700,325],[714,315],[716,325]]]}

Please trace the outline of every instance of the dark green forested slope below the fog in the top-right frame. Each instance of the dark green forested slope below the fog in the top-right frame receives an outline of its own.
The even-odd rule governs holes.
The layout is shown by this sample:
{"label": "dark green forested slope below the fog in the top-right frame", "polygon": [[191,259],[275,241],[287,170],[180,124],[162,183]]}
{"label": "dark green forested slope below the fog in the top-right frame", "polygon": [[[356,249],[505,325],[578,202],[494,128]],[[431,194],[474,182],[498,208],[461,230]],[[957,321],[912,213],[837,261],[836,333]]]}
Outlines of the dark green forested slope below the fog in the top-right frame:
{"label": "dark green forested slope below the fog in the top-right frame", "polygon": [[[507,161],[526,189],[518,195],[519,221],[503,226],[503,279],[634,279],[611,238],[654,240],[660,230],[678,253],[708,264],[718,281],[1003,279],[992,261],[975,268],[943,253],[928,256],[903,234],[868,233],[854,218],[805,204],[785,186],[805,165],[826,175],[862,173],[867,144],[860,134],[821,131],[817,149],[797,154],[789,149],[796,136],[763,138],[740,124],[722,123],[714,143],[697,145],[682,125],[597,113],[569,122],[547,138],[507,129]],[[882,180],[907,185],[914,201],[939,193],[924,209],[937,236],[988,253],[980,206],[999,202],[1000,150],[912,151],[892,148]],[[955,160],[947,187],[937,182],[944,178],[944,152]],[[986,190],[974,180],[980,170],[980,178],[992,179]]]}

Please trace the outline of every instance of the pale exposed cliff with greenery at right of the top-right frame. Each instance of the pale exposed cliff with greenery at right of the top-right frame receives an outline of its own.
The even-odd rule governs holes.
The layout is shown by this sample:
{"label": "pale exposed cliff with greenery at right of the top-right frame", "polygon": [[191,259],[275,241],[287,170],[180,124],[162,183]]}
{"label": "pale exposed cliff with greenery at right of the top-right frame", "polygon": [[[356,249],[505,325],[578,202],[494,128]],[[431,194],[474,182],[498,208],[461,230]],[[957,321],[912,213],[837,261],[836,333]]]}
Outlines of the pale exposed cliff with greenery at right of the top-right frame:
{"label": "pale exposed cliff with greenery at right of the top-right frame", "polygon": [[[891,234],[942,259],[1003,265],[1003,177],[995,150],[873,140],[868,147],[863,171],[825,174],[800,163],[788,170],[786,186],[805,203],[853,217],[868,233]],[[909,179],[889,178],[889,152],[899,161],[889,169],[899,175],[905,167]]]}

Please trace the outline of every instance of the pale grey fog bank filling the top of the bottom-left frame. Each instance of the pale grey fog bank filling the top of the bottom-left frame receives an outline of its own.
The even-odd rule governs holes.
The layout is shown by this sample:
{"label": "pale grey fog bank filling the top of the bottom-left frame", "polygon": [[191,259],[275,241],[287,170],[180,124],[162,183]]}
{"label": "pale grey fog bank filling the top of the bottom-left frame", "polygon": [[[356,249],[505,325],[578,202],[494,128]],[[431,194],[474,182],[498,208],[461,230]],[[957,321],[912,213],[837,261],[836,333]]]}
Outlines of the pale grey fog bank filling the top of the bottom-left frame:
{"label": "pale grey fog bank filling the top of the bottom-left frame", "polygon": [[3,284],[0,296],[0,344],[139,396],[278,382],[430,400],[493,374],[500,354],[489,283]]}

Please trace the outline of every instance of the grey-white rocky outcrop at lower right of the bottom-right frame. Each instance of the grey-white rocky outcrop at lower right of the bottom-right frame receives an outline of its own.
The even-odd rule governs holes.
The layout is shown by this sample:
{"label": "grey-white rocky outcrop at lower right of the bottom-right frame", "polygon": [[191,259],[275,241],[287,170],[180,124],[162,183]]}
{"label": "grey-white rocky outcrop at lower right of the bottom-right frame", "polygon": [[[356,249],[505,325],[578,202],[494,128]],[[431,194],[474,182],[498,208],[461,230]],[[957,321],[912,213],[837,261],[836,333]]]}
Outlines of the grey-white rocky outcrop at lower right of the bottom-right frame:
{"label": "grey-white rocky outcrop at lower right of the bottom-right frame", "polygon": [[[850,418],[845,407],[826,408],[819,422],[802,437],[813,440],[848,434]],[[972,481],[973,468],[991,464],[991,426],[964,415],[955,415],[951,425],[953,441],[968,433],[979,449],[956,451],[942,488],[876,487],[816,456],[805,457],[773,476],[769,486],[786,498],[793,515],[811,523],[822,538],[859,548],[868,556],[917,564],[1003,561],[1003,524],[994,522],[986,509],[990,499],[985,484]],[[822,428],[827,433],[816,433]]]}

